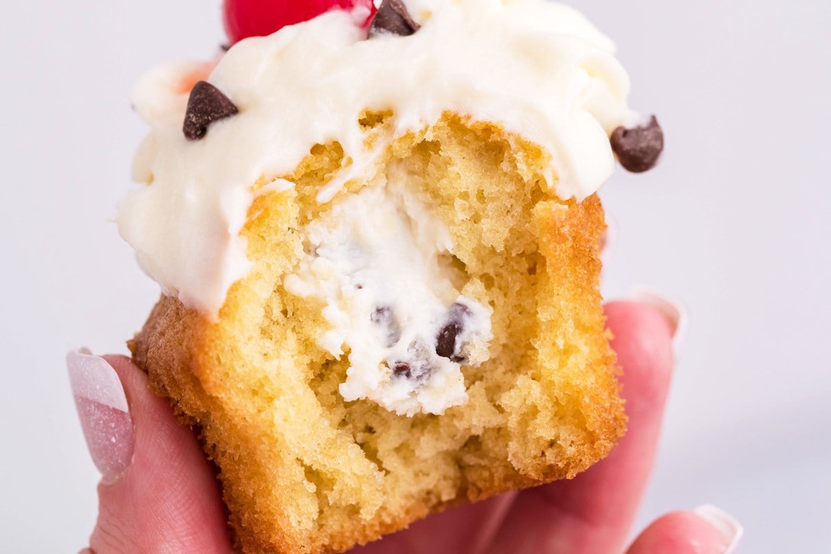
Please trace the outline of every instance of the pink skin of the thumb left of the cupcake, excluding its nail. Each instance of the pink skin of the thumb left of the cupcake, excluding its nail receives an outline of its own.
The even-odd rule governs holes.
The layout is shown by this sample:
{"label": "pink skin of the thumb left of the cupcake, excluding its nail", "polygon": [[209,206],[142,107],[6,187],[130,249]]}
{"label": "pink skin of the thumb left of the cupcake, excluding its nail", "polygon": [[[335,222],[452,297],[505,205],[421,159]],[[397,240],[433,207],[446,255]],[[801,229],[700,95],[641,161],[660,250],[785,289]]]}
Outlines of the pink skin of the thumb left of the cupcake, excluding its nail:
{"label": "pink skin of the thumb left of the cupcake, excluding its nail", "polygon": [[99,485],[91,548],[160,552],[175,545],[175,552],[229,552],[219,484],[194,434],[179,424],[168,401],[150,390],[147,375],[130,358],[102,358],[124,388],[135,452],[117,481]]}

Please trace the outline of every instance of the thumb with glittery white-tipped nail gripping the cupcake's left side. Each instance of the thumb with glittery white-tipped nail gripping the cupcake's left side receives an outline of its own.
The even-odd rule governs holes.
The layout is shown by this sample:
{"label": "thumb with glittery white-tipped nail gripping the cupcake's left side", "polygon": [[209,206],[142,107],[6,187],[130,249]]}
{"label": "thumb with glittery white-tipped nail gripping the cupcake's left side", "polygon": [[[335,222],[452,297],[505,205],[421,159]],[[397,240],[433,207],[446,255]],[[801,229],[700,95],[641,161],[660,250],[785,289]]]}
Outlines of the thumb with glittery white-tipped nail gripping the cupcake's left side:
{"label": "thumb with glittery white-tipped nail gripping the cupcake's left side", "polygon": [[96,467],[96,554],[230,552],[214,471],[170,405],[123,356],[66,356],[81,426]]}

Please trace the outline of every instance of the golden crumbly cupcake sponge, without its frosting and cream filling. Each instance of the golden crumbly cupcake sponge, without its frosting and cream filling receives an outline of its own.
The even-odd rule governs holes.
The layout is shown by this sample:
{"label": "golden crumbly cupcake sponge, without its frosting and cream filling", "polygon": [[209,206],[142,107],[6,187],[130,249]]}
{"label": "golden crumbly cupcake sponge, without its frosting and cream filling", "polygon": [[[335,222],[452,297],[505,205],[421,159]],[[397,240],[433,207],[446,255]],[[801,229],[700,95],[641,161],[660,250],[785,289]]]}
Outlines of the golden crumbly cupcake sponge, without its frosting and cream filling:
{"label": "golden crumbly cupcake sponge, without its frosting and cream filling", "polygon": [[[362,115],[368,147],[388,115]],[[337,143],[316,145],[283,176],[293,189],[253,185],[262,190],[243,228],[253,269],[218,321],[162,297],[130,341],[219,466],[239,552],[345,552],[445,507],[573,478],[624,432],[598,290],[597,196],[558,199],[544,150],[452,114],[393,141],[378,170],[403,164],[407,186],[447,225],[455,287],[494,310],[490,358],[463,367],[470,399],[445,414],[345,402],[349,362],[315,341],[321,306],[283,288],[304,226],[377,186],[352,181],[317,203],[342,157]]]}

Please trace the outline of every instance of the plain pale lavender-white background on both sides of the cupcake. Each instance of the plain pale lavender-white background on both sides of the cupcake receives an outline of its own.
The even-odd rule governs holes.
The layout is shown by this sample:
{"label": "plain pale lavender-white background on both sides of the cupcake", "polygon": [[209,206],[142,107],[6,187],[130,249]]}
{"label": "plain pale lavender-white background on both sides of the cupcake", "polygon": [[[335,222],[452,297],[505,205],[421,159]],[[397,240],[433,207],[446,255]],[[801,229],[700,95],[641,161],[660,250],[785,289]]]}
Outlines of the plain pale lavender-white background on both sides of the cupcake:
{"label": "plain pale lavender-white background on both sides of the cupcake", "polygon": [[[615,38],[660,169],[603,194],[606,292],[691,312],[641,523],[715,503],[741,552],[831,552],[831,3],[573,0]],[[96,512],[63,356],[125,351],[155,302],[107,222],[142,71],[224,40],[212,0],[0,5],[0,552],[76,552]],[[313,55],[313,53],[310,53]]]}

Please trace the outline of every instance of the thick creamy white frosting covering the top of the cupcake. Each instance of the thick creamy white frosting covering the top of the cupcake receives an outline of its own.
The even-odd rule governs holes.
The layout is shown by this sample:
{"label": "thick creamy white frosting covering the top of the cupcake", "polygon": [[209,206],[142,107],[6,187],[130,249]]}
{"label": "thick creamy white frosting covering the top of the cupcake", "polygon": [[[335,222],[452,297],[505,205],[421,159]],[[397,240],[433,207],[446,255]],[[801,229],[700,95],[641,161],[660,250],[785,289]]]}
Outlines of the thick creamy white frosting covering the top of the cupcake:
{"label": "thick creamy white frosting covering the top of the cupcake", "polygon": [[[203,140],[182,134],[187,96],[176,71],[151,71],[135,92],[150,124],[134,174],[149,186],[121,204],[121,235],[168,294],[216,316],[250,264],[238,236],[257,179],[291,174],[312,145],[337,140],[345,167],[318,195],[376,172],[390,140],[445,110],[504,125],[552,155],[548,185],[563,199],[593,194],[612,173],[609,133],[630,120],[629,81],[612,42],[578,12],[546,0],[407,0],[411,37],[366,39],[366,12],[328,12],[239,42],[209,77],[239,114]],[[361,112],[392,110],[367,150]]]}

